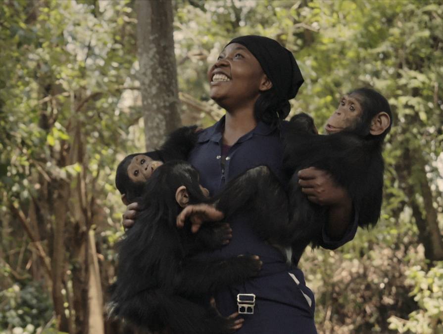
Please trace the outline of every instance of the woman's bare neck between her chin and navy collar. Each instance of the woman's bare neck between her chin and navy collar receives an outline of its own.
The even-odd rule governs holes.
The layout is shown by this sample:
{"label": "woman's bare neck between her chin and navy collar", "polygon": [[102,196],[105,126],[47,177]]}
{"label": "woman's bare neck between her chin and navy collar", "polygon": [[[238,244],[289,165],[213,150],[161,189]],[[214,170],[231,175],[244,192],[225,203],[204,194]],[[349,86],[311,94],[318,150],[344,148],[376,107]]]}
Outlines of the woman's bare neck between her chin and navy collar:
{"label": "woman's bare neck between her chin and navy collar", "polygon": [[232,146],[257,125],[253,109],[226,112],[223,144]]}

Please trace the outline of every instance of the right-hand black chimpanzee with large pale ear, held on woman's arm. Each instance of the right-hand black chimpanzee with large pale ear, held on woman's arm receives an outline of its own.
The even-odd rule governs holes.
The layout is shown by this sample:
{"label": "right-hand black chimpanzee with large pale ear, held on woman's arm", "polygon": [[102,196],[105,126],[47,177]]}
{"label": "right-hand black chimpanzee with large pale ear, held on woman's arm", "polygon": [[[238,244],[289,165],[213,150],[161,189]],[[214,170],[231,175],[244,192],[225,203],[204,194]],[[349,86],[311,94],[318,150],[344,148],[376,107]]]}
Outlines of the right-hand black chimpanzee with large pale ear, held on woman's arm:
{"label": "right-hand black chimpanzee with large pale ear, held on woman's arm", "polygon": [[296,115],[285,134],[285,167],[295,171],[289,190],[295,263],[309,242],[318,245],[328,211],[308,200],[297,172],[307,167],[329,171],[347,190],[359,226],[373,226],[383,198],[382,146],[392,125],[388,101],[370,88],[353,90],[342,98],[325,126],[328,135],[314,134],[315,126],[307,119],[305,114]]}

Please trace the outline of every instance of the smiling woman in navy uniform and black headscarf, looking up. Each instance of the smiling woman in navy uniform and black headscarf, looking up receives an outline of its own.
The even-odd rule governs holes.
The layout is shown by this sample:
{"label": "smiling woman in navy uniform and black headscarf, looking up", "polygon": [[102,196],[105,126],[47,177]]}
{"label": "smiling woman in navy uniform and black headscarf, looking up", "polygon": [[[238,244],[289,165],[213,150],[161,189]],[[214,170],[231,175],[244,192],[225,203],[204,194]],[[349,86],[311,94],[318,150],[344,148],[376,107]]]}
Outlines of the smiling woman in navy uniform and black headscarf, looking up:
{"label": "smiling woman in navy uniform and black headscarf, looking up", "polygon": [[[287,184],[290,175],[282,167],[285,123],[303,78],[292,53],[278,42],[260,36],[243,36],[229,42],[208,71],[210,96],[226,115],[199,133],[189,162],[200,172],[201,184],[216,195],[230,179],[252,167],[266,165]],[[329,221],[322,246],[335,249],[351,240],[356,231],[352,204],[342,188],[322,170],[307,168],[298,174],[308,198],[329,206]],[[124,225],[131,226],[136,204],[128,206]],[[209,206],[188,209],[195,224],[216,220]],[[276,248],[258,238],[250,228],[249,212],[230,221],[233,237],[221,250],[201,256],[228,257],[257,254],[263,261],[257,278],[215,295],[220,313],[228,316],[238,310],[238,294],[256,296],[253,314],[245,314],[237,333],[316,333],[314,297],[305,286],[298,268],[289,268]],[[241,296],[242,297],[242,296]]]}

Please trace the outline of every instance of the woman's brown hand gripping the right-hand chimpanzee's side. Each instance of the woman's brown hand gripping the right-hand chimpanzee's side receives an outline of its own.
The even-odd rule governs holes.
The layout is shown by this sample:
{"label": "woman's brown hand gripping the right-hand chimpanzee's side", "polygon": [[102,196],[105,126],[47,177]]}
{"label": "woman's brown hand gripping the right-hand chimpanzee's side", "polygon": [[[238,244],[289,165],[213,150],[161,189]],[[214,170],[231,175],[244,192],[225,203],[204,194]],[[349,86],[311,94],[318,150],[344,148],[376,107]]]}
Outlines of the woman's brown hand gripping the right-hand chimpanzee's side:
{"label": "woman's brown hand gripping the right-hand chimpanzee's side", "polygon": [[326,170],[309,167],[298,171],[297,176],[301,191],[313,203],[335,206],[350,201],[346,189],[339,186]]}

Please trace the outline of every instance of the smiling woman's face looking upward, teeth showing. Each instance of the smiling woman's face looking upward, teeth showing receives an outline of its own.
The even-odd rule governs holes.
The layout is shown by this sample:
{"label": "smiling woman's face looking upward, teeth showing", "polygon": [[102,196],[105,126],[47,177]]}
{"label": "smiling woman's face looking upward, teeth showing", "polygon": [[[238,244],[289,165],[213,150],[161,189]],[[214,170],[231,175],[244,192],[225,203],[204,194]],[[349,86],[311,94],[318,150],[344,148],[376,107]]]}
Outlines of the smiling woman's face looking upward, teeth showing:
{"label": "smiling woman's face looking upward, teeth showing", "polygon": [[239,43],[223,49],[208,71],[208,80],[211,98],[223,108],[255,102],[268,82],[258,60]]}

